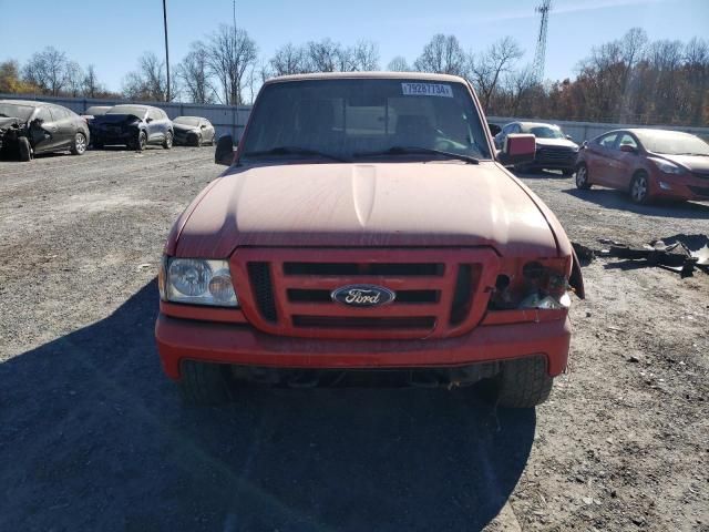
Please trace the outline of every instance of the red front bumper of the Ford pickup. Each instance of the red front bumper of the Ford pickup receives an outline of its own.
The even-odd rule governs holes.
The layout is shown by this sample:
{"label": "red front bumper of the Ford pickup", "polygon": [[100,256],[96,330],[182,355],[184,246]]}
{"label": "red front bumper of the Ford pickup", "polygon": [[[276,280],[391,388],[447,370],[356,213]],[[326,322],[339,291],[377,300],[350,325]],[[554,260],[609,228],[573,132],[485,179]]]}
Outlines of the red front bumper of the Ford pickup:
{"label": "red front bumper of the Ford pickup", "polygon": [[553,321],[479,326],[444,339],[337,340],[259,332],[249,325],[197,321],[161,313],[155,338],[163,369],[181,378],[183,360],[311,369],[377,369],[469,366],[543,355],[548,374],[566,368],[568,317]]}

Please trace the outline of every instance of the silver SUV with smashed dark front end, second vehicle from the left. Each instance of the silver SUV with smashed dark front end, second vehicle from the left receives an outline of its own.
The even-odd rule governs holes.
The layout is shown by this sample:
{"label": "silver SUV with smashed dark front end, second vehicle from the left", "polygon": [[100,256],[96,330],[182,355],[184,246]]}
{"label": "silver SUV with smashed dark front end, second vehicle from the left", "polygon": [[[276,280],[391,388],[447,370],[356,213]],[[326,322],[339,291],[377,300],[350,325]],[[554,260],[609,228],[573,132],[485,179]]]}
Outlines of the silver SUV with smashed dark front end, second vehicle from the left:
{"label": "silver SUV with smashed dark front end, second vehicle from the left", "polygon": [[150,105],[114,105],[91,123],[93,146],[123,144],[143,151],[148,144],[173,147],[173,123],[165,111]]}

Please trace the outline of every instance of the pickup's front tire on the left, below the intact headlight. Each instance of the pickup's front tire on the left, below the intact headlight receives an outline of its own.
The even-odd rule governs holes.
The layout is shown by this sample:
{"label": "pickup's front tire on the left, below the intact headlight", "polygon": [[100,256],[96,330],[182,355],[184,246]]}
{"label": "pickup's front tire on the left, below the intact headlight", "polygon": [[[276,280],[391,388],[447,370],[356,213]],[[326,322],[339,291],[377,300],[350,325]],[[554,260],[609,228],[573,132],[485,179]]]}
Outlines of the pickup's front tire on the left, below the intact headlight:
{"label": "pickup's front tire on the left, below the intact headlight", "polygon": [[207,407],[227,402],[232,393],[226,370],[220,364],[183,361],[179,391],[185,403]]}

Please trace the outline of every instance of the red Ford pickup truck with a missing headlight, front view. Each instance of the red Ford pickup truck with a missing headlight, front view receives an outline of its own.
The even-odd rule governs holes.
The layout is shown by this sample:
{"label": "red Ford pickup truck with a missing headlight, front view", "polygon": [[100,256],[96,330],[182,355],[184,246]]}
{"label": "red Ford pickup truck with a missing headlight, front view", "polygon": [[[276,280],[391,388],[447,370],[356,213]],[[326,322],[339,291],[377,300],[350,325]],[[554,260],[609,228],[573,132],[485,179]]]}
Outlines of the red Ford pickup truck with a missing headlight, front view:
{"label": "red Ford pickup truck with a missing headlight, front view", "polygon": [[244,380],[327,386],[361,370],[544,401],[584,289],[558,221],[505,170],[534,153],[533,135],[495,151],[461,78],[266,82],[238,147],[219,140],[229,168],[167,239],[165,372],[195,403]]}

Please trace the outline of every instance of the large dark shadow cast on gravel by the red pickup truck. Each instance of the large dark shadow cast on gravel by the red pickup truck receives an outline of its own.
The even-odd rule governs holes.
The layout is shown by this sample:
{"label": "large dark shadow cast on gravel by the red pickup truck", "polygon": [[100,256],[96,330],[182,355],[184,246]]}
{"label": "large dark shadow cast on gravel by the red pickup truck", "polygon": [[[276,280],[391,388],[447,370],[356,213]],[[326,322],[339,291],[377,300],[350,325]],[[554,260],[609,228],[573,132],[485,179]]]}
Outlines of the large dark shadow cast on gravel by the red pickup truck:
{"label": "large dark shadow cast on gravel by the red pickup truck", "polygon": [[467,391],[256,389],[186,409],[153,344],[156,286],[0,365],[4,530],[480,530],[534,410]]}

